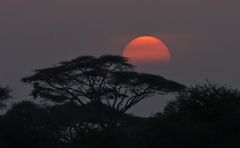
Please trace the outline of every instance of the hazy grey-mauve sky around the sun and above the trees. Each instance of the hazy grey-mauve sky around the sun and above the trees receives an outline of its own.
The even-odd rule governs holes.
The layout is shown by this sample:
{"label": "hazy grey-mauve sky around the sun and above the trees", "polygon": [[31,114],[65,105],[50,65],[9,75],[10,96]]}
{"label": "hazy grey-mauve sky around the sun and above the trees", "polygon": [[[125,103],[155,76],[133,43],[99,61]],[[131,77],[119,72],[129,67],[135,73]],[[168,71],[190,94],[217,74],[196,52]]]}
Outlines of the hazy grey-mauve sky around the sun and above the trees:
{"label": "hazy grey-mauve sky around the sun and above the trees", "polygon": [[[240,88],[240,1],[237,0],[1,0],[0,81],[27,98],[19,80],[32,70],[82,55],[121,54],[140,35],[154,35],[171,52],[167,65],[139,65],[186,85]],[[141,103],[149,115],[166,98]]]}

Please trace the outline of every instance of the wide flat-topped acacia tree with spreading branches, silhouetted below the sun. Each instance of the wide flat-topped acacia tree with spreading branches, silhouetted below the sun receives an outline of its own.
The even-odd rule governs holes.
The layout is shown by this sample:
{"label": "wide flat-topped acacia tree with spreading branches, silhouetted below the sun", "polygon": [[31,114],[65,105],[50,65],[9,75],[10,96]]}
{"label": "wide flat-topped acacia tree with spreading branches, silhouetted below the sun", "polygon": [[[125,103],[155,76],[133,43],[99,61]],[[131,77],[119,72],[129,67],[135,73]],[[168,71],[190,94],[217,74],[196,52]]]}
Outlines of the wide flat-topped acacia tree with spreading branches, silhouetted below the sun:
{"label": "wide flat-topped acacia tree with spreading branches, silhouetted below the sun", "polygon": [[184,88],[161,76],[135,72],[126,58],[113,55],[61,62],[36,70],[23,82],[34,86],[34,97],[59,103],[74,101],[81,106],[93,104],[108,125],[116,125],[122,114],[145,98]]}

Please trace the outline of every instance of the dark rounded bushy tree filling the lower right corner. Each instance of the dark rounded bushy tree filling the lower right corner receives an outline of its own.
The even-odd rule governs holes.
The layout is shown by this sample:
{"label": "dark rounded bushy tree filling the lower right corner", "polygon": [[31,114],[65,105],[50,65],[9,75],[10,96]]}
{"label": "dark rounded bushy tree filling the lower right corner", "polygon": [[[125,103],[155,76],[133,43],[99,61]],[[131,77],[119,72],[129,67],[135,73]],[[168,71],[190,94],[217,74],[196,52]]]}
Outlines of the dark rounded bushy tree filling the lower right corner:
{"label": "dark rounded bushy tree filling the lower right corner", "polygon": [[196,85],[149,123],[142,136],[146,147],[240,146],[240,92],[212,83]]}

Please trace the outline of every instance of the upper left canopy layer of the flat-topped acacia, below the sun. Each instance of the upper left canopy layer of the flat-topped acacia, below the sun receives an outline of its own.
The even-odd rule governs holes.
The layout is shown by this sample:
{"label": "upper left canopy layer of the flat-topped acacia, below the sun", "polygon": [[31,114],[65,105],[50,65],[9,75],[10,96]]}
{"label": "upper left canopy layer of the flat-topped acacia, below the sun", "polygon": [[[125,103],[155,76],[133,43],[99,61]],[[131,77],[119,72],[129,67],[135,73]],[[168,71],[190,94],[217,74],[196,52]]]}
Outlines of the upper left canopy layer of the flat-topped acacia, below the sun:
{"label": "upper left canopy layer of the flat-topped acacia, below the sun", "polygon": [[60,62],[58,66],[53,66],[45,69],[35,70],[35,74],[23,78],[24,82],[33,81],[71,81],[70,77],[80,76],[100,76],[106,75],[108,72],[127,71],[133,66],[127,63],[127,59],[120,56],[106,55],[99,58],[92,56],[82,56],[71,61]]}

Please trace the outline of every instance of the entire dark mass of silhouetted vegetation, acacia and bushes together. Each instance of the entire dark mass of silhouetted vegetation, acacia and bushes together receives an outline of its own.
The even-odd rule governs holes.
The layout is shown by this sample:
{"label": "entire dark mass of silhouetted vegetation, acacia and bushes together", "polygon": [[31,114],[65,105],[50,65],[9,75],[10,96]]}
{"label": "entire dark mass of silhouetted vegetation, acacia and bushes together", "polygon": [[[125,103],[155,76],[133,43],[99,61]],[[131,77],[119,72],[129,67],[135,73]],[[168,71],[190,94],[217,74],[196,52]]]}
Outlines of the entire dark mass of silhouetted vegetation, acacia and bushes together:
{"label": "entire dark mass of silhouetted vegetation, acacia and bushes together", "polygon": [[[33,98],[0,115],[1,148],[204,148],[240,146],[240,92],[207,82],[186,88],[138,73],[123,57],[85,56],[23,78]],[[126,113],[143,99],[175,92],[163,112]],[[0,107],[10,89],[0,87]],[[160,98],[161,99],[161,98]]]}

